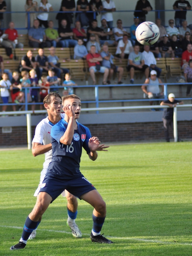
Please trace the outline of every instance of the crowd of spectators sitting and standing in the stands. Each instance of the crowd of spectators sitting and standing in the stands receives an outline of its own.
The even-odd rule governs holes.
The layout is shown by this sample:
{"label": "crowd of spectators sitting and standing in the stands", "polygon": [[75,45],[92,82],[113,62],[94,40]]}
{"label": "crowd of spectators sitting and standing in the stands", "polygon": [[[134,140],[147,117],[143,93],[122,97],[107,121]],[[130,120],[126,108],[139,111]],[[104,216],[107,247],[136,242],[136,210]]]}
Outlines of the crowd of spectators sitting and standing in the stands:
{"label": "crowd of spectators sitting and standing in the stands", "polygon": [[[130,32],[122,25],[122,20],[117,19],[116,26],[113,25],[113,12],[116,11],[115,4],[112,0],[78,0],[75,5],[74,0],[62,0],[60,11],[56,16],[58,20],[58,29],[54,29],[54,22],[49,20],[49,11],[53,11],[53,7],[47,0],[41,0],[38,4],[36,1],[26,0],[25,11],[30,13],[30,29],[28,30],[29,46],[38,48],[38,55],[33,56],[32,51],[28,51],[21,60],[19,71],[21,72],[21,79],[18,80],[19,73],[12,73],[4,70],[2,67],[3,61],[0,59],[2,84],[0,83],[1,96],[6,110],[8,89],[10,89],[12,102],[18,104],[18,109],[22,108],[20,103],[24,101],[24,91],[22,87],[37,87],[40,86],[40,93],[38,89],[32,88],[28,90],[28,101],[42,102],[43,97],[49,91],[50,86],[58,87],[61,85],[61,75],[64,74],[66,85],[76,85],[71,80],[69,70],[60,67],[58,56],[55,54],[56,47],[68,48],[74,47],[74,59],[84,59],[88,63],[90,76],[93,84],[96,84],[95,72],[103,73],[103,84],[110,84],[114,73],[118,73],[118,84],[121,84],[123,75],[123,68],[115,66],[113,59],[127,59],[127,70],[130,71],[130,83],[134,83],[135,70],[142,71],[146,79],[153,83],[153,77],[150,77],[151,71],[156,72],[157,79],[161,74],[161,69],[157,67],[155,58],[165,57],[182,57],[181,67],[184,70],[186,81],[191,81],[191,65],[188,64],[192,58],[192,39],[190,26],[187,26],[186,11],[191,9],[188,1],[179,0],[173,5],[176,10],[175,19],[169,20],[169,26],[164,27],[161,24],[161,19],[156,19],[156,24],[160,29],[160,38],[157,43],[152,46],[141,46],[135,37],[135,30],[137,26],[146,20],[146,14],[153,8],[148,0],[138,0],[135,7],[133,24],[124,24],[130,26]],[[5,1],[0,0],[0,20],[3,21],[3,10],[6,10]],[[177,10],[180,10],[179,12]],[[35,13],[34,11],[41,11]],[[65,12],[67,11],[67,12]],[[80,11],[74,14],[69,11]],[[88,11],[95,11],[96,17],[100,11],[101,26],[98,27],[97,19],[94,19],[93,13]],[[140,12],[137,12],[140,11]],[[176,26],[174,26],[174,20]],[[73,28],[73,21],[75,27]],[[26,16],[26,27],[27,24]],[[84,28],[83,28],[84,27]],[[23,48],[23,44],[18,41],[18,33],[14,28],[14,22],[9,23],[9,28],[4,32],[0,30],[0,44],[5,47],[7,55],[10,59],[13,58],[13,51],[15,48]],[[116,47],[116,53],[113,56],[109,52],[108,45]],[[44,56],[43,48],[50,48],[50,55]],[[46,73],[46,75],[43,75]],[[11,81],[11,84],[6,81]],[[146,81],[148,81],[146,80]],[[159,81],[159,80],[158,80]],[[5,88],[4,85],[7,85]],[[9,84],[9,85],[8,85]],[[66,88],[66,86],[65,86]],[[191,87],[187,89],[187,96],[189,96]],[[58,91],[58,89],[55,89]],[[145,89],[146,90],[146,89]],[[4,92],[3,92],[4,91]],[[64,94],[71,93],[73,90],[64,89]],[[147,91],[147,90],[146,90]],[[6,96],[3,96],[5,95]],[[14,97],[13,97],[14,95]],[[148,94],[150,95],[150,94]],[[35,105],[32,105],[34,110]],[[16,107],[13,105],[13,110]]]}

